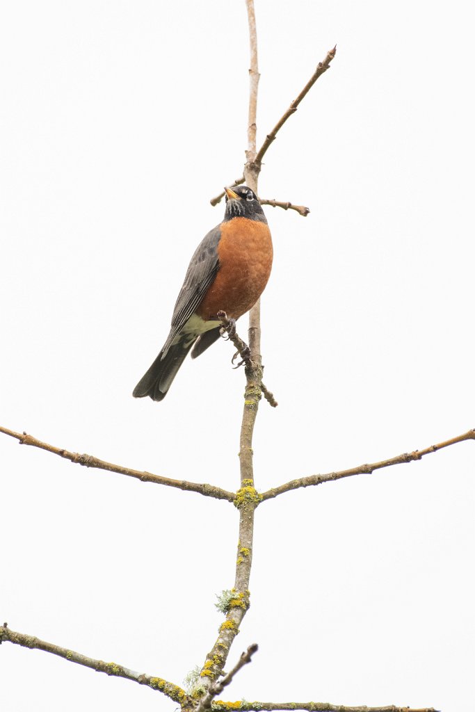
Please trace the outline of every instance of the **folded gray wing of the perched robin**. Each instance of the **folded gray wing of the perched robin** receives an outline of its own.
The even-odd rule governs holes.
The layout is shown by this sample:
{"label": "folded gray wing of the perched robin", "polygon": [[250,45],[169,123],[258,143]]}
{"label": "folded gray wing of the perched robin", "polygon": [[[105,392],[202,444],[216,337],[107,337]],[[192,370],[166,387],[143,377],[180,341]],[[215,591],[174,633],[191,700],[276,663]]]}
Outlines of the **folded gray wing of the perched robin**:
{"label": "folded gray wing of the perched robin", "polygon": [[164,355],[174,337],[202,302],[207,288],[218,273],[218,243],[220,239],[221,227],[218,225],[204,236],[192,256],[177,303],[174,305],[172,329],[163,347]]}

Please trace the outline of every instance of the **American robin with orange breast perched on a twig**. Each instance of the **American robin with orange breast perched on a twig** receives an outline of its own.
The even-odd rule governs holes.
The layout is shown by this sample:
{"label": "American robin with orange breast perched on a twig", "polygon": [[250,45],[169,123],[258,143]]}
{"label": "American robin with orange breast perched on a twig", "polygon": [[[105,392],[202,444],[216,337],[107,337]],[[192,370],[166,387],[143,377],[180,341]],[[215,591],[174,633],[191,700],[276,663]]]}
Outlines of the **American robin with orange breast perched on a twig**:
{"label": "American robin with orange breast perched on a twig", "polygon": [[238,319],[254,306],[267,284],[272,241],[259,200],[244,185],[225,191],[224,220],[192,256],[168,338],[135,386],[135,398],[165,398],[189,350],[196,358],[219,338],[217,312]]}

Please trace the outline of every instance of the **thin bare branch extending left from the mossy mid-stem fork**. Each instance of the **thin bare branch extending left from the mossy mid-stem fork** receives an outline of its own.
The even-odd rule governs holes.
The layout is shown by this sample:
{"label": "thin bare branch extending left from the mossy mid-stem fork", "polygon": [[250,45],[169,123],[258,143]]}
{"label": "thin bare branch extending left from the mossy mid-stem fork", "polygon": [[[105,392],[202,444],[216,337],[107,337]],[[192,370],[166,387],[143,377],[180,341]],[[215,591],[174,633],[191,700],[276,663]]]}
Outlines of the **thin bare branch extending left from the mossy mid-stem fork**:
{"label": "thin bare branch extending left from the mossy mid-stem fork", "polygon": [[93,467],[98,470],[106,470],[108,472],[116,472],[120,475],[126,475],[127,477],[134,477],[141,482],[153,482],[157,485],[166,485],[168,487],[175,487],[187,492],[197,492],[204,495],[205,497],[214,497],[215,499],[224,499],[228,502],[233,502],[236,495],[232,492],[221,489],[220,487],[214,487],[206,483],[198,482],[187,482],[186,480],[173,480],[169,477],[162,477],[160,475],[153,475],[150,472],[132,470],[129,467],[122,467],[120,465],[114,465],[111,462],[105,462],[105,460],[99,460],[97,457],[92,455],[80,455],[77,452],[69,452],[62,448],[58,448],[54,445],[49,445],[48,443],[43,443],[41,440],[37,440],[32,435],[27,435],[26,433],[16,433],[14,430],[9,430],[0,426],[0,433],[16,438],[21,445],[31,445],[37,447],[41,450],[46,450],[47,452],[53,453],[53,455],[59,455],[60,457],[66,458],[71,462],[83,465],[85,467]]}

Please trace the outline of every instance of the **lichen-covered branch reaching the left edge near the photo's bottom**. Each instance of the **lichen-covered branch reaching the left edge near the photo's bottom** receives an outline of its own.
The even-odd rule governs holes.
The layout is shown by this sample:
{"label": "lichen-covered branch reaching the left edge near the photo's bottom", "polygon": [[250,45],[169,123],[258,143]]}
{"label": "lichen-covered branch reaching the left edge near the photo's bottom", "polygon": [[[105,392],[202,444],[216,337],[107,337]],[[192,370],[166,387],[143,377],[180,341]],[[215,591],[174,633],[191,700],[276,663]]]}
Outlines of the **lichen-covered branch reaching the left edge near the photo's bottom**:
{"label": "lichen-covered branch reaching the left edge near the photo's bottom", "polygon": [[0,643],[4,642],[20,645],[24,648],[43,650],[46,653],[58,655],[60,658],[64,658],[71,663],[83,665],[95,670],[96,672],[103,672],[106,675],[112,675],[115,677],[123,677],[126,680],[132,680],[140,685],[151,687],[152,690],[160,690],[160,692],[180,705],[183,705],[190,700],[187,693],[185,693],[181,687],[178,687],[171,682],[167,682],[161,677],[153,677],[151,675],[145,675],[145,673],[135,672],[134,670],[125,668],[117,663],[106,663],[103,660],[89,658],[87,655],[76,653],[74,650],[69,650],[67,648],[61,648],[61,646],[53,643],[47,643],[46,641],[40,640],[32,635],[25,635],[24,633],[18,633],[14,630],[10,630],[6,623],[0,627]]}

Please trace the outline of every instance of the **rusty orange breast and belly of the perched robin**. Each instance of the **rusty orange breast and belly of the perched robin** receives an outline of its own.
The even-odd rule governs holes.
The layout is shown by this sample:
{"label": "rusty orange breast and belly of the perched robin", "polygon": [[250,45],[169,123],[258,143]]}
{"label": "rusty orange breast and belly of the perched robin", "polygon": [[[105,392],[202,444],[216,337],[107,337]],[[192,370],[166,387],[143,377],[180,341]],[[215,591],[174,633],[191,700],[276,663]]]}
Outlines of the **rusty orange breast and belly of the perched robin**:
{"label": "rusty orange breast and belly of the perched robin", "polygon": [[197,313],[206,320],[216,319],[222,309],[237,319],[254,306],[271,274],[271,231],[256,220],[229,220],[221,224],[218,256],[219,272]]}

